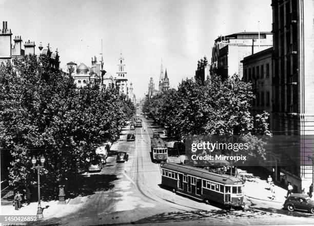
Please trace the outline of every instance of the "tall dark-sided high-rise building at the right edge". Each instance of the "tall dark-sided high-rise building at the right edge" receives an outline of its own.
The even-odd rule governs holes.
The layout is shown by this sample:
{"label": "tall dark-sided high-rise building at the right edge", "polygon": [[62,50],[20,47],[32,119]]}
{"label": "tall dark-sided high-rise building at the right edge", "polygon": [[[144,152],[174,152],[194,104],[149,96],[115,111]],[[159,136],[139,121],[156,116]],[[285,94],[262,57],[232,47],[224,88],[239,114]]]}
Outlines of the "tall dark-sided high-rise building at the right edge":
{"label": "tall dark-sided high-rise building at the right edge", "polygon": [[[314,2],[272,0],[273,32],[273,131],[283,135],[314,134]],[[278,132],[276,132],[278,131]],[[297,164],[280,169],[278,178],[297,191],[312,182],[307,152],[302,141]],[[313,143],[313,142],[311,142]],[[307,149],[308,148],[308,149]]]}

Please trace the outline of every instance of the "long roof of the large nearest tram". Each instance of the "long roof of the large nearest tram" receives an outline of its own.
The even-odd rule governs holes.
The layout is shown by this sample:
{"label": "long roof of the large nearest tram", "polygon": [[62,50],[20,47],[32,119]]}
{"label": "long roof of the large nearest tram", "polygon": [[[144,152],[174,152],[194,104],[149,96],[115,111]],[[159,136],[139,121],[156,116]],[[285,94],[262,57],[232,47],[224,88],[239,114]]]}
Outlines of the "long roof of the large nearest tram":
{"label": "long roof of the large nearest tram", "polygon": [[224,183],[224,184],[235,184],[237,182],[242,183],[242,180],[238,177],[233,177],[226,174],[213,173],[213,172],[209,172],[208,170],[200,169],[197,167],[180,165],[180,164],[172,163],[172,162],[164,163],[162,168],[167,169],[167,170],[173,170],[176,172],[181,172],[181,173],[188,174],[195,177],[201,177],[203,179],[207,179],[207,180],[211,180],[211,181],[215,181],[219,183]]}

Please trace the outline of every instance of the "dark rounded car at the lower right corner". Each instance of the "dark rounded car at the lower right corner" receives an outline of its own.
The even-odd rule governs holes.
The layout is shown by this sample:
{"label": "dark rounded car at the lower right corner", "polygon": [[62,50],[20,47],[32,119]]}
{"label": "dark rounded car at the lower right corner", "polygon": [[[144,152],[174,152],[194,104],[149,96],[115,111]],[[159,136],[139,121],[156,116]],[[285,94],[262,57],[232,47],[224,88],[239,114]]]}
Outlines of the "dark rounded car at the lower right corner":
{"label": "dark rounded car at the lower right corner", "polygon": [[314,214],[314,201],[306,194],[295,193],[286,199],[284,209],[288,211],[303,210]]}

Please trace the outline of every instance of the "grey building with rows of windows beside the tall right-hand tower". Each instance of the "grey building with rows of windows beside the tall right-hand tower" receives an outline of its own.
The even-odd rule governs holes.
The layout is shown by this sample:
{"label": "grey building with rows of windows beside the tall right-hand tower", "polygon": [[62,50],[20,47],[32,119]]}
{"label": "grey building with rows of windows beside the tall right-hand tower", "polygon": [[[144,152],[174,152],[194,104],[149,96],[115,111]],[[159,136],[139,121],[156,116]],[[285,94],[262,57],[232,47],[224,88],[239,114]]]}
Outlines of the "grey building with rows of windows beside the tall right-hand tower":
{"label": "grey building with rows of windows beside the tall right-hand tower", "polygon": [[269,129],[272,130],[272,48],[244,57],[243,81],[252,84],[251,114],[269,113]]}

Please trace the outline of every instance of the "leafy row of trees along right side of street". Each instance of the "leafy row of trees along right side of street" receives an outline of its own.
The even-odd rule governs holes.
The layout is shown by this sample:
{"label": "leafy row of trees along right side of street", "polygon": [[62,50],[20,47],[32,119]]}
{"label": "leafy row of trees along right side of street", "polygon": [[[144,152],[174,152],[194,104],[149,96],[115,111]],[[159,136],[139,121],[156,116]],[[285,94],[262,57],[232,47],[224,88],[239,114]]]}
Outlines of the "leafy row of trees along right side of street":
{"label": "leafy row of trees along right side of street", "polygon": [[255,98],[250,83],[237,75],[222,80],[218,75],[210,79],[182,80],[178,90],[170,89],[145,101],[143,110],[166,126],[170,136],[183,135],[241,135],[250,141],[250,150],[265,155],[264,142],[254,135],[267,135],[267,112],[251,116],[251,100]]}

